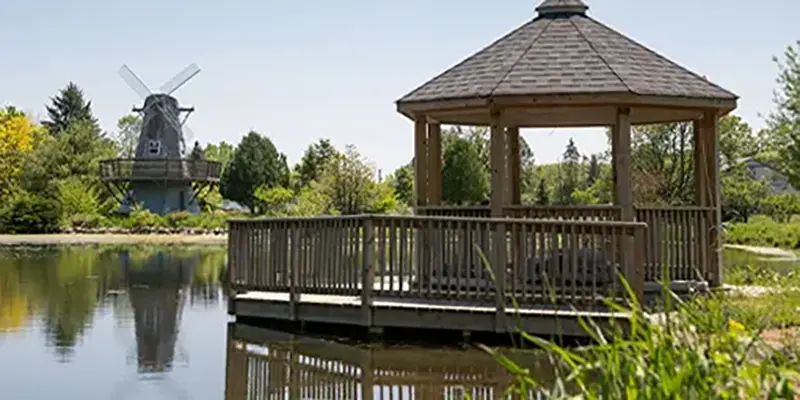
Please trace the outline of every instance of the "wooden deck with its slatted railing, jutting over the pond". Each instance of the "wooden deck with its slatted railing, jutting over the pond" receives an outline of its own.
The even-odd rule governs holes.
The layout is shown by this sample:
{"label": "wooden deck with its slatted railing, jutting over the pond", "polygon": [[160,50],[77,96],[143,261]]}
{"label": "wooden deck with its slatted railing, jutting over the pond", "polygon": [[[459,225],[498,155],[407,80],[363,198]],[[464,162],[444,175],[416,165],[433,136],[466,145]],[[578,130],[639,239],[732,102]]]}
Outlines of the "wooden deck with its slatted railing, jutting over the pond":
{"label": "wooden deck with its slatted railing, jutting over the pond", "polygon": [[[645,257],[646,229],[640,222],[433,216],[231,221],[231,313],[365,328],[584,336],[581,318],[625,324],[628,315],[610,312],[607,301],[640,307],[660,294],[659,284],[645,279],[654,268]],[[683,277],[698,246],[671,232],[669,243],[680,246],[665,248],[687,257],[654,262],[667,276],[675,265]],[[669,282],[673,290],[698,283]]]}

